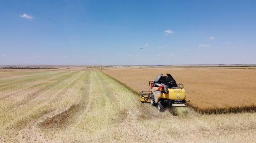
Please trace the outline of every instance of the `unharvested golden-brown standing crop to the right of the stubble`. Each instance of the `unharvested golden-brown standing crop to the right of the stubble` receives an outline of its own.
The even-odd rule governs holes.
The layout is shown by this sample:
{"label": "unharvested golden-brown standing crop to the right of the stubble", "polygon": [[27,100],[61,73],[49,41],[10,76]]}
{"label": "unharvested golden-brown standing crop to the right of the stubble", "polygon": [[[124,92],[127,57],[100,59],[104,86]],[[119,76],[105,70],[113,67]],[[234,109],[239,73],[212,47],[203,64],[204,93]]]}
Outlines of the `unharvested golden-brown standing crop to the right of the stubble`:
{"label": "unharvested golden-brown standing crop to the right of the stubble", "polygon": [[200,113],[256,111],[256,70],[218,68],[114,68],[102,70],[136,92],[149,90],[148,81],[171,73],[183,83],[190,106]]}

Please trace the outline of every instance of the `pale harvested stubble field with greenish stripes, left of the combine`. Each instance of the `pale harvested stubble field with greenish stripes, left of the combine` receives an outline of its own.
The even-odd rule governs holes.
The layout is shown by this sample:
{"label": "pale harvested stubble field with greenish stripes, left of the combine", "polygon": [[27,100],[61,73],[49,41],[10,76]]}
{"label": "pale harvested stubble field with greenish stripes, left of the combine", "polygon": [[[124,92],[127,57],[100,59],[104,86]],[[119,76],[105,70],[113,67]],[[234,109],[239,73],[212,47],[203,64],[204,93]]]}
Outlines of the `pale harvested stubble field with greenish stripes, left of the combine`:
{"label": "pale harvested stubble field with greenish stripes, left of the combine", "polygon": [[99,71],[0,71],[0,142],[235,143],[255,136],[255,113],[160,113]]}

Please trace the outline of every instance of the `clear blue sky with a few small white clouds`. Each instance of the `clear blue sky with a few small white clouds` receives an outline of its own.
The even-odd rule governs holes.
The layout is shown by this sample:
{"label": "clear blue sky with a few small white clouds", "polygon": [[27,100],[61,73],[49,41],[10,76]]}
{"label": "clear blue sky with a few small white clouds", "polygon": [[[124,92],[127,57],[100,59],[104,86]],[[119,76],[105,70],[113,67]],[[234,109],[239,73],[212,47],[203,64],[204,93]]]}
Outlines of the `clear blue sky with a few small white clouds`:
{"label": "clear blue sky with a few small white clouds", "polygon": [[254,0],[0,0],[0,64],[256,64],[255,7]]}

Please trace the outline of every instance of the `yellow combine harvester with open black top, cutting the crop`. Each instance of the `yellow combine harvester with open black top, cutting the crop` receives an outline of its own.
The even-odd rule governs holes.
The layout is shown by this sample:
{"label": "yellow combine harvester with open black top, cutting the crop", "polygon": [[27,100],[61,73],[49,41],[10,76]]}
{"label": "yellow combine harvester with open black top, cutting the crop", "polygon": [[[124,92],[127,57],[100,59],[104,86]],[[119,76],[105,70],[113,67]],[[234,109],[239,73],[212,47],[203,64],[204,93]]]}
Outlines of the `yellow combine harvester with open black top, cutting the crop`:
{"label": "yellow combine harvester with open black top, cutting the crop", "polygon": [[163,112],[165,107],[187,106],[183,84],[177,84],[171,74],[166,75],[159,74],[154,81],[149,81],[150,90],[140,93],[141,102],[150,102],[153,106],[157,106],[160,112]]}

